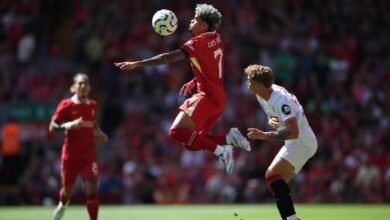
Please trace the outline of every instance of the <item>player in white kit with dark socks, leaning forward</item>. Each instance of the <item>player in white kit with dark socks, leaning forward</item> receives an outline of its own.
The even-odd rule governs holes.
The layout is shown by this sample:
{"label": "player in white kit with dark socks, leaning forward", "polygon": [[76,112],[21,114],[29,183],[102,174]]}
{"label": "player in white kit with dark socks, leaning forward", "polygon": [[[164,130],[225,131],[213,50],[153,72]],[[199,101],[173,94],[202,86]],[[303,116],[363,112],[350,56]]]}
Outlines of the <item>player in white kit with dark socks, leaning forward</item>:
{"label": "player in white kit with dark socks, leaning forward", "polygon": [[268,123],[274,131],[248,128],[248,137],[258,140],[284,141],[265,174],[279,213],[284,220],[297,220],[288,183],[317,150],[317,139],[297,98],[274,84],[272,69],[250,65],[245,70],[250,92],[256,95]]}

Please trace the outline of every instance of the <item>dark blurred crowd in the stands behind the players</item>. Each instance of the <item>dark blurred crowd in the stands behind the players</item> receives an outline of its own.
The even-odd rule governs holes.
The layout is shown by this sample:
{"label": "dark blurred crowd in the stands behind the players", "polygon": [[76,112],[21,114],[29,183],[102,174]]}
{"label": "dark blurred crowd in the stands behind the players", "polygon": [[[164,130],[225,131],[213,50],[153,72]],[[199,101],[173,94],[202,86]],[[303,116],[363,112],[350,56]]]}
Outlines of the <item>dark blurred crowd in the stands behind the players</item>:
{"label": "dark blurred crowd in the stands behind the players", "polygon": [[[245,87],[248,64],[271,66],[300,99],[319,140],[317,154],[292,182],[302,203],[390,202],[390,4],[385,0],[227,0],[223,14],[228,108],[215,128],[267,127]],[[47,133],[76,72],[90,74],[91,97],[111,140],[98,146],[103,204],[263,203],[264,172],[280,144],[237,151],[232,177],[204,152],[188,152],[167,133],[191,79],[186,62],[129,73],[112,63],[178,48],[195,1],[4,0],[0,3],[0,127],[22,128],[20,151],[0,156],[0,204],[57,202],[62,135]],[[153,13],[176,13],[162,38]],[[4,137],[2,137],[2,144]],[[3,148],[2,148],[3,149]],[[83,203],[81,184],[72,200]]]}

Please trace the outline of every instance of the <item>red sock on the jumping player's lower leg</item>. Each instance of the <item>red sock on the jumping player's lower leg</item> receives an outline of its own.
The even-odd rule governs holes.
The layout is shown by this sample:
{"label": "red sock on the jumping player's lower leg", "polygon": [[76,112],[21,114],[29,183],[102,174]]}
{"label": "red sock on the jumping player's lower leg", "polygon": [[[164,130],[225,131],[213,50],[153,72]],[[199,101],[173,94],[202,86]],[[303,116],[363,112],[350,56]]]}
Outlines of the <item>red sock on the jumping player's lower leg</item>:
{"label": "red sock on the jumping player's lower leg", "polygon": [[188,150],[208,150],[214,153],[215,148],[217,148],[215,142],[206,136],[199,135],[191,128],[173,128],[169,131],[169,135],[173,139],[183,143]]}

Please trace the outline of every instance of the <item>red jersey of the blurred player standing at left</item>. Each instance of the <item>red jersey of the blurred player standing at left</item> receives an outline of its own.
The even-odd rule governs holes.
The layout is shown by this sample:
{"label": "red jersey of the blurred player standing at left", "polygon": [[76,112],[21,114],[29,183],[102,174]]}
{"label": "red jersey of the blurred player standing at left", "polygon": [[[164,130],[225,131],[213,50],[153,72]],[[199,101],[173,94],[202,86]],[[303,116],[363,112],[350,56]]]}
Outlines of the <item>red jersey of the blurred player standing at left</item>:
{"label": "red jersey of the blurred player standing at left", "polygon": [[57,124],[73,121],[82,117],[90,122],[87,127],[65,131],[62,148],[62,160],[96,160],[94,124],[96,121],[96,101],[80,103],[77,96],[62,100],[51,120]]}

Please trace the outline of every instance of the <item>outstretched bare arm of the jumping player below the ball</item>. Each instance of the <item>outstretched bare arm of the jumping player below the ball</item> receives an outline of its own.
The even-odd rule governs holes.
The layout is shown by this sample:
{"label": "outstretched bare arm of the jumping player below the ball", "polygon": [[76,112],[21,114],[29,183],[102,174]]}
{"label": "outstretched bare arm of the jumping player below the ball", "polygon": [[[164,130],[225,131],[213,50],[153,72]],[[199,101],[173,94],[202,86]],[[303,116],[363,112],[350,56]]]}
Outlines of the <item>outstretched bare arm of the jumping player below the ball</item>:
{"label": "outstretched bare arm of the jumping player below the ball", "polygon": [[149,59],[133,61],[133,62],[119,62],[119,63],[114,63],[114,65],[116,67],[119,67],[119,69],[121,70],[132,70],[137,67],[158,66],[161,64],[172,63],[172,62],[183,60],[185,58],[186,58],[186,54],[181,49],[177,49],[167,53],[159,54]]}

